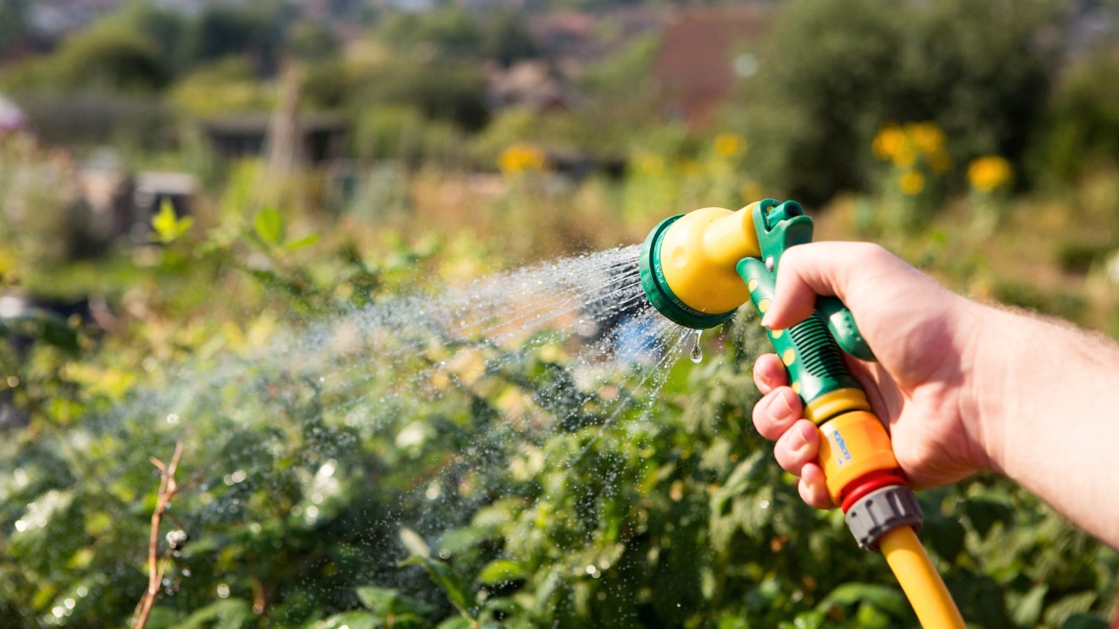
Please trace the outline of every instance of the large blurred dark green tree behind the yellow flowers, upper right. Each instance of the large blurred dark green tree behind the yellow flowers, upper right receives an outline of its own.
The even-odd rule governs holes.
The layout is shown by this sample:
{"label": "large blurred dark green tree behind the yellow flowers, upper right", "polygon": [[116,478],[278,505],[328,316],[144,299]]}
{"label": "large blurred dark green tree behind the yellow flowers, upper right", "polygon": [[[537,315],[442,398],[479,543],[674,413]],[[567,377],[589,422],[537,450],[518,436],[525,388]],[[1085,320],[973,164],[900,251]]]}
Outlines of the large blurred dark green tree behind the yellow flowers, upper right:
{"label": "large blurred dark green tree behind the yellow flowers, upper right", "polygon": [[957,165],[1018,159],[1038,124],[1051,50],[1045,0],[897,6],[794,2],[760,48],[743,90],[758,167],[809,203],[868,182],[871,139],[884,122],[933,121]]}

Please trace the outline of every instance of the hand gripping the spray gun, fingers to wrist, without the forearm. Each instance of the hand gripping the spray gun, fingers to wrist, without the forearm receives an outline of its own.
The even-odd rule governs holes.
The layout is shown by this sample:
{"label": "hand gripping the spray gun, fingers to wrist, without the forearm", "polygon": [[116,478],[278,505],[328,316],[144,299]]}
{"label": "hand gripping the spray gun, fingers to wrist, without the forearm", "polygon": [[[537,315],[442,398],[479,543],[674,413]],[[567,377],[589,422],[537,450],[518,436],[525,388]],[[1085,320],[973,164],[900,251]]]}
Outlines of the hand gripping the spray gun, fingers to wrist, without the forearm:
{"label": "hand gripping the spray gun, fingers to wrist, without the forearm", "polygon": [[[845,356],[882,419],[902,471],[915,487],[955,482],[990,467],[982,447],[974,373],[985,307],[935,283],[881,246],[811,243],[781,257],[774,299],[762,325],[789,328],[807,318],[817,295],[836,295],[850,309],[877,363]],[[777,440],[782,468],[800,477],[800,496],[835,506],[817,461],[819,431],[802,419],[784,366],[768,354],[754,364],[762,400],[753,421]]]}

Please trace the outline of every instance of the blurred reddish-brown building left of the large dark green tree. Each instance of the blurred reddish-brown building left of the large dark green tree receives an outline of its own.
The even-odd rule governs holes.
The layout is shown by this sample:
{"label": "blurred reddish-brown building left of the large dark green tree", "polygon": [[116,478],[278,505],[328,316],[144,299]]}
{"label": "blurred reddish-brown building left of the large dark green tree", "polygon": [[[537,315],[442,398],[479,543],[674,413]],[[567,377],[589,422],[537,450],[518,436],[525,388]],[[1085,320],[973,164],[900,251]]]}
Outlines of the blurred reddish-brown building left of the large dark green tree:
{"label": "blurred reddish-brown building left of the large dark green tree", "polygon": [[769,28],[768,6],[685,9],[664,29],[656,78],[666,113],[694,125],[711,121],[735,82],[752,73],[749,56],[735,59],[735,47],[761,39]]}

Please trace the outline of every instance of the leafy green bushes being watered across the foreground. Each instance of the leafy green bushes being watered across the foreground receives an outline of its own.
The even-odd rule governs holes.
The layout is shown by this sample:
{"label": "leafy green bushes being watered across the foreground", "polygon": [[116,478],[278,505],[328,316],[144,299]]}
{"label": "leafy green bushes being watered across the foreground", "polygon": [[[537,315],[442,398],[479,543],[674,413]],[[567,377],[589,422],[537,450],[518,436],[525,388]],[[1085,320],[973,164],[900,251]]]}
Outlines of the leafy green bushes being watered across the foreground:
{"label": "leafy green bushes being watered across the foreground", "polygon": [[[423,273],[424,254],[404,248],[376,262],[384,271],[346,262],[319,283],[310,261],[340,252],[294,264],[279,246],[285,224],[262,210],[242,232],[247,251],[203,243],[195,264],[263,254],[270,266],[244,267],[282,288],[269,300],[319,312],[338,308],[340,279],[365,274],[378,299],[386,273]],[[328,372],[307,349],[272,365],[215,362],[199,346],[163,391],[69,389],[83,420],[49,411],[34,436],[0,447],[0,605],[29,626],[126,622],[144,588],[148,458],[186,436],[172,513],[190,541],[152,627],[913,625],[881,557],[854,547],[839,514],[805,506],[750,428],[745,357],[764,342],[753,320],[724,330],[723,353],[703,365],[668,367],[658,394],[642,387],[653,372],[611,377],[618,398],[636,401],[620,409],[577,388],[551,338],[507,349],[427,339],[372,370],[363,346],[331,351]],[[478,381],[378,402],[474,351],[487,364]],[[79,358],[91,369],[106,359]],[[548,423],[525,423],[539,411],[508,405],[518,398]],[[922,537],[978,627],[1060,627],[1107,609],[1115,553],[1022,490],[979,478],[921,499]]]}

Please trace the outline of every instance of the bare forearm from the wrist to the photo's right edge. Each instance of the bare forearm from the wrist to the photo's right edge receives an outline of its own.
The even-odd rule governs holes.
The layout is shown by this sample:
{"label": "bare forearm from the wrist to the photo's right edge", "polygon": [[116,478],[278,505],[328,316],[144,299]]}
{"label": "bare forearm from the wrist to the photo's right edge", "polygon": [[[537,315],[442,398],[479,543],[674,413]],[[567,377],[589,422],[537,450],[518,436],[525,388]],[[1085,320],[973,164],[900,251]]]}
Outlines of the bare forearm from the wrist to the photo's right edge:
{"label": "bare forearm from the wrist to the photo's right edge", "polygon": [[1119,547],[1119,346],[984,307],[972,383],[990,467]]}

